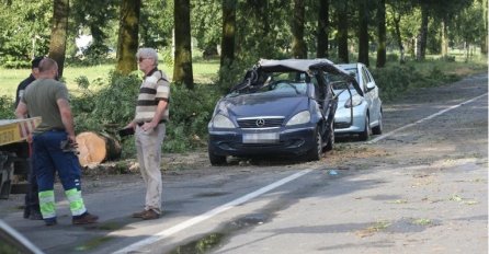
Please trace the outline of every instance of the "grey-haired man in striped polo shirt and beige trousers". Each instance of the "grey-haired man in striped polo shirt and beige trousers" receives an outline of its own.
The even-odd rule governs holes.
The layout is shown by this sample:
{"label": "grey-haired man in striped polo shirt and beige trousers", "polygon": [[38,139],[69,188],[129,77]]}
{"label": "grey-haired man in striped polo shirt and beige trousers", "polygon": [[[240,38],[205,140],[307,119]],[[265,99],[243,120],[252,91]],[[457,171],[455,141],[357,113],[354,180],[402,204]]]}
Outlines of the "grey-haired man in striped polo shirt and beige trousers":
{"label": "grey-haired man in striped polo shirt and beige trousers", "polygon": [[146,183],[146,198],[144,210],[133,213],[133,217],[150,220],[161,216],[161,146],[166,132],[164,123],[169,119],[170,83],[167,76],[158,70],[158,54],[155,49],[140,48],[136,58],[145,77],[139,88],[136,116],[126,128],[135,130],[139,170]]}

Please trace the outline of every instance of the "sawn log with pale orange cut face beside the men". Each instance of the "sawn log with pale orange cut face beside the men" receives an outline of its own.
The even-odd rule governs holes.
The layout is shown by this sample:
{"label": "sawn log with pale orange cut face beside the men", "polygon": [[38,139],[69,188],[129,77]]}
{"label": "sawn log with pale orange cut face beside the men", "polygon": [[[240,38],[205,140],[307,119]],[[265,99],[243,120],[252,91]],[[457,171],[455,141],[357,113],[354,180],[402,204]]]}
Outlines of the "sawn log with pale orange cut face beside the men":
{"label": "sawn log with pale orange cut face beside the men", "polygon": [[121,158],[120,141],[107,134],[84,131],[77,135],[77,143],[80,152],[78,159],[82,166]]}

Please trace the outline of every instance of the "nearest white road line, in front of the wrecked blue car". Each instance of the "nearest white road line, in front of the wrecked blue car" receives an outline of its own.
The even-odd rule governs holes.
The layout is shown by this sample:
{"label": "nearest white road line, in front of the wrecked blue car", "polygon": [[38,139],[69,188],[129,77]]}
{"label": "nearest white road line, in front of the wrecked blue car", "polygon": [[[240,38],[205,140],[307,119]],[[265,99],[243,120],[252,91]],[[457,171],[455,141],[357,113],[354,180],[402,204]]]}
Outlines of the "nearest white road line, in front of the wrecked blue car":
{"label": "nearest white road line, in front of the wrecked blue car", "polygon": [[252,193],[247,194],[247,195],[244,195],[244,196],[242,196],[240,198],[237,198],[237,199],[235,199],[232,201],[229,201],[229,203],[227,203],[227,204],[225,204],[223,206],[216,207],[216,208],[214,208],[214,209],[212,209],[212,210],[209,210],[209,211],[207,211],[207,212],[205,212],[203,215],[200,215],[197,217],[194,217],[192,219],[183,221],[183,222],[181,222],[179,224],[175,224],[175,226],[173,226],[173,227],[171,227],[171,228],[169,228],[167,230],[158,232],[158,233],[153,234],[150,238],[147,238],[147,239],[141,240],[139,242],[133,243],[133,244],[130,244],[130,245],[128,245],[128,246],[126,246],[124,249],[121,249],[121,250],[114,252],[114,253],[116,253],[116,254],[129,253],[129,252],[136,251],[136,250],[138,250],[138,249],[140,249],[140,247],[143,247],[145,245],[149,245],[151,243],[160,241],[160,240],[162,240],[164,238],[168,238],[168,236],[170,236],[170,235],[172,235],[174,233],[178,233],[178,232],[180,232],[180,231],[182,231],[182,230],[184,230],[184,229],[186,229],[189,227],[192,227],[192,226],[194,226],[196,223],[200,223],[200,222],[202,222],[204,220],[211,219],[214,216],[217,216],[217,215],[219,215],[219,213],[221,213],[224,211],[227,211],[227,210],[229,210],[229,209],[231,209],[231,208],[234,208],[236,206],[239,206],[239,205],[241,205],[241,204],[243,204],[243,203],[246,203],[246,201],[248,201],[248,200],[250,200],[252,198],[255,198],[255,197],[258,197],[258,196],[260,196],[262,194],[265,194],[265,193],[268,193],[268,192],[270,192],[270,190],[272,190],[272,189],[274,189],[276,187],[280,187],[280,186],[282,186],[282,185],[284,185],[284,184],[286,184],[286,183],[288,183],[291,181],[294,181],[294,180],[296,180],[296,178],[298,178],[298,177],[300,177],[300,176],[311,172],[312,170],[314,169],[306,169],[306,170],[303,170],[300,172],[297,172],[297,173],[295,173],[293,175],[289,175],[289,176],[287,176],[285,178],[280,180],[280,181],[277,181],[275,183],[272,183],[272,184],[270,184],[268,186],[264,186],[264,187],[262,187],[262,188],[260,188],[260,189],[258,189],[255,192],[252,192]]}

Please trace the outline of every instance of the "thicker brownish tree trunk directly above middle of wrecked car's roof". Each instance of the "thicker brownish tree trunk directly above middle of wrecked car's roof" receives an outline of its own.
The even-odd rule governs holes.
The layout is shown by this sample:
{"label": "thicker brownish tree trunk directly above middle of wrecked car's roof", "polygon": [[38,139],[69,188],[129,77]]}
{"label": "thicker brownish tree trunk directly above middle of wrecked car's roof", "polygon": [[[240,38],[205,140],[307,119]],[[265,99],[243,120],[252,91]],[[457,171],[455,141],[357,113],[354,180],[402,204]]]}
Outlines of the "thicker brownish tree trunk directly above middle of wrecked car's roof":
{"label": "thicker brownish tree trunk directly above middle of wrecked car's roof", "polygon": [[294,14],[292,15],[292,56],[307,58],[307,46],[304,41],[304,21],[306,15],[305,0],[294,0]]}

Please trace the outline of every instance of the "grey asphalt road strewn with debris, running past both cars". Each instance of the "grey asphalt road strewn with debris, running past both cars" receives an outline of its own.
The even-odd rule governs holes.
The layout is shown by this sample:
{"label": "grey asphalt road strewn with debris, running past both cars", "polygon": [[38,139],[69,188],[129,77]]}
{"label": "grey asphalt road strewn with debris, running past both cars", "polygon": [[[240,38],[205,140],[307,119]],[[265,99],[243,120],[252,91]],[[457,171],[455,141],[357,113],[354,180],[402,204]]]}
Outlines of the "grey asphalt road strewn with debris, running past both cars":
{"label": "grey asphalt road strewn with debris, running past both cars", "polygon": [[0,216],[46,253],[487,253],[487,74],[413,91],[384,106],[383,136],[320,162],[166,173],[158,220],[129,218],[138,175],[83,183],[96,224],[71,226],[60,192],[56,227],[22,219],[21,195]]}

